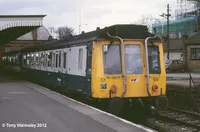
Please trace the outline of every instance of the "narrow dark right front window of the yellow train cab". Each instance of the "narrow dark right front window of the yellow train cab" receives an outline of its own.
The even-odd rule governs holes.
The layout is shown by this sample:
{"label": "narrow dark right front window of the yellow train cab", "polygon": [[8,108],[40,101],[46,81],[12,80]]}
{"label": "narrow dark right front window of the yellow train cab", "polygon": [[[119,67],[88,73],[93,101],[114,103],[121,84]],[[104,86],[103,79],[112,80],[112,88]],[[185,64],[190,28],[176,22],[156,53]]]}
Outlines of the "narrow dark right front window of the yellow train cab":
{"label": "narrow dark right front window of the yellow train cab", "polygon": [[149,73],[160,73],[159,47],[157,45],[148,46]]}

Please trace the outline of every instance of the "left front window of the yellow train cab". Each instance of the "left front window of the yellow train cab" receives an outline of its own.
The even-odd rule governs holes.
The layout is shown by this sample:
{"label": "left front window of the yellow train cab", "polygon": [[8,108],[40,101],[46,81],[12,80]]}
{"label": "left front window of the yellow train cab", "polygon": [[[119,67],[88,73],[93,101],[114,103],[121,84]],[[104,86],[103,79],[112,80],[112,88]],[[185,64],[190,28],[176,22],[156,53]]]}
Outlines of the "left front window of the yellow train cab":
{"label": "left front window of the yellow train cab", "polygon": [[121,74],[120,45],[103,45],[104,74]]}

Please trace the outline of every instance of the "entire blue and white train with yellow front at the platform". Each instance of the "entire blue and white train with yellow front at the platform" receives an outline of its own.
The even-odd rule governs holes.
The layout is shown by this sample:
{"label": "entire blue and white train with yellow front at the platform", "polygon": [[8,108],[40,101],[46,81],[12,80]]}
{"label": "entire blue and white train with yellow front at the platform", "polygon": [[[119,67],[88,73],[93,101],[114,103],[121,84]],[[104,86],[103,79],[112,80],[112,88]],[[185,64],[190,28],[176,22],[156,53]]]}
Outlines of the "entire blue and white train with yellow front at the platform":
{"label": "entire blue and white train with yellow front at the platform", "polygon": [[[114,25],[7,52],[2,64],[36,81],[130,107],[167,106],[163,45],[142,25]],[[153,109],[152,108],[152,109]]]}

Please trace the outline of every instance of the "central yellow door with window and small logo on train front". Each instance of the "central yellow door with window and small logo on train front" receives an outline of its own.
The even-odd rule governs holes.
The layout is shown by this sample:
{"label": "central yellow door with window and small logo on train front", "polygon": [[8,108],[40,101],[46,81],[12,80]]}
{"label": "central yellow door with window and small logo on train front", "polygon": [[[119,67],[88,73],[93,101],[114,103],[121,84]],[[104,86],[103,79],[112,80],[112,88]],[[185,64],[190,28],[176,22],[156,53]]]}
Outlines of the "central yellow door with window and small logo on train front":
{"label": "central yellow door with window and small logo on train front", "polygon": [[126,97],[141,97],[146,93],[143,46],[141,42],[125,44]]}

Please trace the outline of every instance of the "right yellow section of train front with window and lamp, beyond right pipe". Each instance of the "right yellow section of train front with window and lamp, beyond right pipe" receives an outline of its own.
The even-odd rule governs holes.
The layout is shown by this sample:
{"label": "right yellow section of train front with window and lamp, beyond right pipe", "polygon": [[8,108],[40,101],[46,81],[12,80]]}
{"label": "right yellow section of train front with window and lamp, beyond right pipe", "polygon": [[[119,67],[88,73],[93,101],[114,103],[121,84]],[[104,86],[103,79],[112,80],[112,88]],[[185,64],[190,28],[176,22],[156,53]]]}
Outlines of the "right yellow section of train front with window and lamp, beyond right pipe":
{"label": "right yellow section of train front with window and lamp, beyond right pipe", "polygon": [[[149,96],[159,96],[163,91],[161,89],[165,88],[165,71],[161,71],[164,68],[163,61],[164,56],[162,55],[162,45],[158,42],[151,42],[147,46],[147,58],[146,65],[146,88]],[[147,61],[148,60],[148,61]],[[163,83],[160,83],[163,82]]]}

